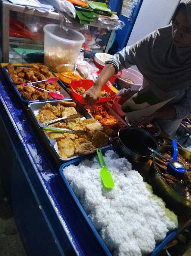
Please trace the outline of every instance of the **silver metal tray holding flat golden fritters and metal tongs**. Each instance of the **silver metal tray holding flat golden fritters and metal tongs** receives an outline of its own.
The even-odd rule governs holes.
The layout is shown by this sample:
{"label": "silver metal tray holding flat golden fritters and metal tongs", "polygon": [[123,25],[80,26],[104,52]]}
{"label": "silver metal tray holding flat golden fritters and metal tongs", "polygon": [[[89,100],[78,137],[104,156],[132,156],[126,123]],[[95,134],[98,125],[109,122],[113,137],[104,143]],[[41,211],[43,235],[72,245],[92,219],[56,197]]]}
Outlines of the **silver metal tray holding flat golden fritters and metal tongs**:
{"label": "silver metal tray holding flat golden fritters and metal tongs", "polygon": [[[46,104],[46,103],[50,103],[52,106],[57,106],[57,103],[60,102],[60,101],[73,101],[76,103],[77,106],[79,106],[81,108],[81,114],[83,117],[85,117],[86,119],[90,119],[90,118],[93,118],[89,113],[88,111],[80,104],[78,103],[76,100],[73,100],[73,99],[64,99],[64,100],[50,100],[50,101],[46,101],[46,102],[33,102],[33,103],[29,103],[28,105],[28,108],[29,108],[29,111],[32,115],[32,117],[34,118],[35,120],[35,123],[37,124],[37,126],[39,127],[40,129],[40,122],[37,120],[36,118],[36,115],[38,114],[38,111]],[[83,156],[87,156],[87,155],[84,155],[84,154],[76,154],[72,157],[69,157],[67,159],[63,159],[62,157],[59,156],[58,154],[58,149],[57,149],[57,142],[55,139],[49,139],[48,138],[48,135],[42,130],[41,130],[41,133],[43,135],[43,137],[46,139],[48,145],[51,147],[51,150],[53,151],[54,155],[56,155],[56,158],[60,161],[60,162],[67,162],[67,161],[70,161],[70,160],[73,160],[73,159],[76,159],[76,158],[81,158]],[[110,145],[107,145],[106,147],[103,147],[103,148],[100,148],[101,151],[104,150],[105,148],[107,149],[108,147],[110,147]],[[92,154],[90,154],[91,156]]]}

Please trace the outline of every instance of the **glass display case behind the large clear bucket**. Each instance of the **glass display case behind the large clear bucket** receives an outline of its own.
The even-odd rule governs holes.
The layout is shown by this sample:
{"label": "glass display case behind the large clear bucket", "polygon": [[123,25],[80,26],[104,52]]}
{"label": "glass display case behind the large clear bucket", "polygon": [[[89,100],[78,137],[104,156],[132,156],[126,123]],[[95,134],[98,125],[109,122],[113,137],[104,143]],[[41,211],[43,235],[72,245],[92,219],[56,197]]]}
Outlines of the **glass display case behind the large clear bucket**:
{"label": "glass display case behind the large clear bucket", "polygon": [[[25,6],[1,3],[1,62],[33,63],[43,59],[46,24],[59,24],[56,11],[38,12]],[[25,31],[25,33],[24,33]],[[115,31],[90,27],[81,31],[88,51],[108,52],[115,40]]]}

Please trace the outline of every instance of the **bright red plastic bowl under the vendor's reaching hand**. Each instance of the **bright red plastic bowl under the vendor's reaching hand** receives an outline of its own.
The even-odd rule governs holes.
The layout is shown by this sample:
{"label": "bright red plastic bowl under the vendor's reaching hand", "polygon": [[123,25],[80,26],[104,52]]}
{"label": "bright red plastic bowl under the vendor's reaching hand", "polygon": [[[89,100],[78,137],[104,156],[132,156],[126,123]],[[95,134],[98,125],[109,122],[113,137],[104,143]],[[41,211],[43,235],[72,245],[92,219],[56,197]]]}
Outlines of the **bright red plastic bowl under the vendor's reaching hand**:
{"label": "bright red plastic bowl under the vendor's reaching hand", "polygon": [[[92,85],[94,84],[93,80],[89,80],[89,79],[81,79],[81,80],[72,80],[70,82],[70,86],[72,88],[72,95],[73,97],[75,97],[76,100],[78,100],[78,102],[80,102],[82,105],[87,105],[87,103],[84,102],[84,98],[82,97],[82,95],[79,95],[78,93],[76,93],[76,89],[78,87],[82,87],[85,89],[85,91],[87,91],[88,89],[90,89],[90,87],[92,87]],[[112,84],[108,81],[106,82],[106,84],[104,84],[104,86],[102,87],[101,91],[107,91],[108,93],[111,94],[111,97],[101,97],[97,102],[95,102],[95,104],[97,103],[103,103],[103,102],[109,102],[110,100],[113,100],[116,96],[116,93],[114,91],[111,90]]]}

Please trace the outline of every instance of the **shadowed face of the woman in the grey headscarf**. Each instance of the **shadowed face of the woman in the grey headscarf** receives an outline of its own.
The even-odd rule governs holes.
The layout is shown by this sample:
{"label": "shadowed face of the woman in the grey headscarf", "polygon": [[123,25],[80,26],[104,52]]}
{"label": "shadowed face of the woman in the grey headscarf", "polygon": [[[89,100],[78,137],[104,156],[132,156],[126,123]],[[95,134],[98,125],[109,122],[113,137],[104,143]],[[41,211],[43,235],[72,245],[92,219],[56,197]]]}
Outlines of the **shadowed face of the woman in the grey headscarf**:
{"label": "shadowed face of the woman in the grey headscarf", "polygon": [[191,31],[186,9],[180,9],[172,22],[173,43],[184,47],[191,45]]}

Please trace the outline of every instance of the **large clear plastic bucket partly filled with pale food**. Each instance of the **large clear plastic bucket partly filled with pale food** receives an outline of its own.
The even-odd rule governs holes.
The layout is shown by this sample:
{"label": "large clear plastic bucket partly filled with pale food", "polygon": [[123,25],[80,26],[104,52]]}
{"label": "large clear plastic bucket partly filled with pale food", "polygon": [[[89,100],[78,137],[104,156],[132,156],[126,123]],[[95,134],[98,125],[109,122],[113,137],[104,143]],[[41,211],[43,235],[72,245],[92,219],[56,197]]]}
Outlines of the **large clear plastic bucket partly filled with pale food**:
{"label": "large clear plastic bucket partly filled with pale food", "polygon": [[67,31],[57,24],[44,26],[44,64],[56,72],[60,64],[74,64],[85,37],[77,30]]}

